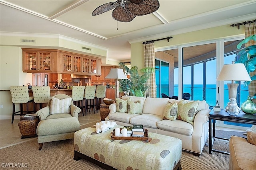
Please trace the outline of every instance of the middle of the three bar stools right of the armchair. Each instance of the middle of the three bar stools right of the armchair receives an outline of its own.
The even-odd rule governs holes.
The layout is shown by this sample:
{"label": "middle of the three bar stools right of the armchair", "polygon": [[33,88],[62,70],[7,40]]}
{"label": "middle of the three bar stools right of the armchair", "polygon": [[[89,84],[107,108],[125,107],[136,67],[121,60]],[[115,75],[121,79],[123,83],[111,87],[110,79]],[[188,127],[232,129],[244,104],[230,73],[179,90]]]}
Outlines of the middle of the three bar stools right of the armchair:
{"label": "middle of the three bar stools right of the armchair", "polygon": [[[95,109],[94,109],[95,91],[96,91],[96,86],[85,86],[85,90],[84,90],[85,115],[87,113],[87,109],[91,110],[92,107],[93,107],[93,111],[95,113]],[[88,108],[88,100],[90,100],[89,108]]]}

